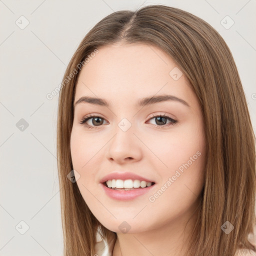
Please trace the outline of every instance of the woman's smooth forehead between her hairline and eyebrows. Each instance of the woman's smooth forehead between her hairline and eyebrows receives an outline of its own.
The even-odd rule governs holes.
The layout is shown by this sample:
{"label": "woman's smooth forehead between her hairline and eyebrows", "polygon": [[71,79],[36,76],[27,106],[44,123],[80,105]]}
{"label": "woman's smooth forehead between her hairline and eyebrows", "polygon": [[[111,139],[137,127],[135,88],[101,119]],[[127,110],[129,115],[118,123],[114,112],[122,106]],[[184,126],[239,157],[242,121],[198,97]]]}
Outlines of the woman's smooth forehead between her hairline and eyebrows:
{"label": "woman's smooth forehead between her hairline and eyebrows", "polygon": [[80,71],[74,101],[83,95],[125,102],[155,94],[191,94],[184,75],[177,80],[170,75],[173,68],[177,68],[173,59],[156,46],[99,47]]}

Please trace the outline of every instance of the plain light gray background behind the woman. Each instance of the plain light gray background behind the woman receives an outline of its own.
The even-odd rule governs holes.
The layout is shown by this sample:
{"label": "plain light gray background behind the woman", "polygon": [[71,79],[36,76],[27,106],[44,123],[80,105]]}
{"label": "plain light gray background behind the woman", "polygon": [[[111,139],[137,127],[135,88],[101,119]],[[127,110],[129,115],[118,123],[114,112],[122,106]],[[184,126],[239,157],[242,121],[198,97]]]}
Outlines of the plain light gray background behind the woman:
{"label": "plain light gray background behind the woman", "polygon": [[[235,59],[255,131],[255,0],[0,0],[0,255],[62,255],[56,164],[58,95],[84,35],[113,11],[166,4],[211,24]],[[29,24],[25,24],[25,19]],[[223,19],[228,15],[230,19]],[[223,20],[223,21],[221,21]],[[17,22],[19,26],[15,23]],[[221,23],[222,22],[222,23]],[[23,118],[28,127],[17,127]],[[18,123],[21,125],[20,123]],[[24,233],[26,224],[29,229]]]}

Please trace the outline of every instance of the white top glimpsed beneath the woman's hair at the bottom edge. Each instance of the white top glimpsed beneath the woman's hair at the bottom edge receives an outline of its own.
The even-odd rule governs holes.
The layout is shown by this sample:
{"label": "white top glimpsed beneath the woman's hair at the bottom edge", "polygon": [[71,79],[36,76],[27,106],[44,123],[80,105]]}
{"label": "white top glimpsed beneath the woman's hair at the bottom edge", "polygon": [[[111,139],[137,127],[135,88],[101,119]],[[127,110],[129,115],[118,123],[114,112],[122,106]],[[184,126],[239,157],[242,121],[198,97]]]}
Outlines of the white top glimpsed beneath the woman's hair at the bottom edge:
{"label": "white top glimpsed beneath the woman's hair at the bottom edge", "polygon": [[[115,234],[113,234],[102,240],[99,233],[97,232],[95,253],[97,253],[98,256],[112,256],[113,247],[116,240],[115,237]],[[251,243],[256,244],[256,235],[250,235],[249,240]],[[234,256],[256,256],[256,252],[250,251],[248,249],[238,249]]]}

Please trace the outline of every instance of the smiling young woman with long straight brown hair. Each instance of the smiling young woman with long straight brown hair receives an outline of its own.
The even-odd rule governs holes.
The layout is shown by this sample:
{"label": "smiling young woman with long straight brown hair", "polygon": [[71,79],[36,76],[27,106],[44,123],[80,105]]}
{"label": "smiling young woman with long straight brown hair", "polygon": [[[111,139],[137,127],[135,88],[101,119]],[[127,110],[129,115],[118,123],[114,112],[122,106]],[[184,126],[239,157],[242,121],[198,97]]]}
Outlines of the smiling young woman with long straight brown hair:
{"label": "smiling young woman with long straight brown hair", "polygon": [[117,11],[86,34],[62,81],[57,157],[65,256],[256,252],[242,85],[222,37],[186,11]]}

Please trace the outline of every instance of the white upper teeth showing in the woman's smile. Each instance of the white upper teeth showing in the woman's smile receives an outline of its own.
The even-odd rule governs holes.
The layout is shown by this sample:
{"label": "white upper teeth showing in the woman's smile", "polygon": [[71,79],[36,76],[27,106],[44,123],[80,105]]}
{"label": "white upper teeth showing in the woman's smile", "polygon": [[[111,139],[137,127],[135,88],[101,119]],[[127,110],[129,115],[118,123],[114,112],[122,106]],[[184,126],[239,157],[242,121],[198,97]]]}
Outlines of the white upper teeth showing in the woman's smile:
{"label": "white upper teeth showing in the woman's smile", "polygon": [[[152,182],[147,181],[140,181],[138,179],[132,180],[132,179],[109,179],[106,181],[107,187],[111,188],[138,188],[138,187],[146,187],[151,186]],[[127,189],[124,189],[127,190]]]}

